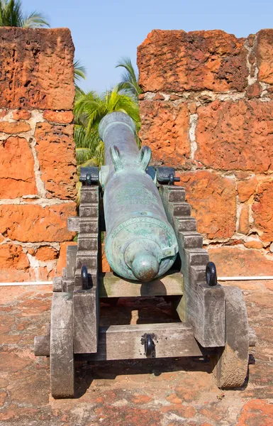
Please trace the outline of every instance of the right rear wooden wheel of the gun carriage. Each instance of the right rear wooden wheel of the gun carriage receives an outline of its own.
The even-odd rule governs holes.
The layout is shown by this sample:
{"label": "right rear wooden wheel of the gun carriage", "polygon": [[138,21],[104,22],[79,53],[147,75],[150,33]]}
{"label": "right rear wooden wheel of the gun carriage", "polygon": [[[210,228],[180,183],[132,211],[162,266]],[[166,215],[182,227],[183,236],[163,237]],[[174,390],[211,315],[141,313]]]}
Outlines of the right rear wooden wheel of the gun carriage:
{"label": "right rear wooden wheel of the gun carriage", "polygon": [[249,334],[247,310],[240,288],[225,291],[225,347],[211,356],[218,388],[243,386],[247,376]]}

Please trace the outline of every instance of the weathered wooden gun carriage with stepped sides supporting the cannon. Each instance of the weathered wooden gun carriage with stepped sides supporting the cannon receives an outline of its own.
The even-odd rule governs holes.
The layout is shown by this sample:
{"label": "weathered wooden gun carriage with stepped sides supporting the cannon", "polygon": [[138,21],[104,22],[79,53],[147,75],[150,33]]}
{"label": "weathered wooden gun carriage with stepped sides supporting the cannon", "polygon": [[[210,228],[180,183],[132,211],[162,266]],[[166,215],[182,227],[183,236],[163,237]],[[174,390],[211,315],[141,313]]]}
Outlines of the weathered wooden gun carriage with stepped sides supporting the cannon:
{"label": "weathered wooden gun carriage with stepped sides supporting the cannon", "polygon": [[[113,114],[119,114],[112,121],[120,120],[122,127],[124,117]],[[145,152],[140,161],[144,157]],[[146,166],[144,173],[154,180],[177,239],[177,259],[167,273],[149,281],[101,273],[104,187],[99,169],[82,169],[79,217],[67,221],[68,229],[78,232],[77,246],[67,247],[66,268],[54,279],[48,334],[35,337],[35,355],[50,356],[54,398],[73,397],[77,354],[89,354],[92,360],[210,356],[219,388],[237,388],[245,382],[255,332],[248,326],[243,293],[217,283],[216,268],[203,249],[184,188],[174,185],[174,169]],[[143,296],[176,296],[181,322],[100,327],[100,298]]]}

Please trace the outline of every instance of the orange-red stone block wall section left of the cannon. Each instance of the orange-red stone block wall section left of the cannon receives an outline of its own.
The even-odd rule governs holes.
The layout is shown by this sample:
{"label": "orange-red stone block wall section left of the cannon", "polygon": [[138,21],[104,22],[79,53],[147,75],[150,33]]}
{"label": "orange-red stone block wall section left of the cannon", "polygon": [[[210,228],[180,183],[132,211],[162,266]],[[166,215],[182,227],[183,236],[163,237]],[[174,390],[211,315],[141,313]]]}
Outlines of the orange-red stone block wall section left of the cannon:
{"label": "orange-red stone block wall section left of the cannon", "polygon": [[74,236],[73,57],[66,28],[0,28],[2,282],[50,280]]}

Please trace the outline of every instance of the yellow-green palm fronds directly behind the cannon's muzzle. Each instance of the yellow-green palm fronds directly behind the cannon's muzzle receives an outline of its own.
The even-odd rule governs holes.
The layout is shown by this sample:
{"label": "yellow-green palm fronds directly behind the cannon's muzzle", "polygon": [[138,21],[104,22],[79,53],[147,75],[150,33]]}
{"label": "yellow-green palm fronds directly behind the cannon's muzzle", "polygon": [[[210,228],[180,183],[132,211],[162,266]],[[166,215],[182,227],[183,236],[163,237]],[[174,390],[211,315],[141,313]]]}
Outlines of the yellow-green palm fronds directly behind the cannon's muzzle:
{"label": "yellow-green palm fronds directly behind the cannon's muzzle", "polygon": [[133,119],[137,131],[140,129],[138,103],[118,87],[99,95],[77,89],[74,105],[74,141],[78,165],[101,165],[104,162],[104,144],[99,137],[101,119],[113,111],[124,112]]}

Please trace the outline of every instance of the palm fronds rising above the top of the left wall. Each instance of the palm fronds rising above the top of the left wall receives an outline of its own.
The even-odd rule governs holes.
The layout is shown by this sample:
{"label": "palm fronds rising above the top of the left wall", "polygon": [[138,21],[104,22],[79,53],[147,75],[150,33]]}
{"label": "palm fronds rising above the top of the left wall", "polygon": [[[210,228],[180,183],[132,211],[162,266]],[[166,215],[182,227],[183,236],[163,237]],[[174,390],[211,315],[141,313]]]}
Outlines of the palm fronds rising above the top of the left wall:
{"label": "palm fronds rising above the top of the left wall", "polygon": [[0,26],[40,28],[50,25],[42,13],[23,13],[21,0],[0,0]]}

